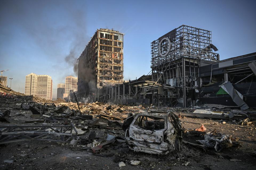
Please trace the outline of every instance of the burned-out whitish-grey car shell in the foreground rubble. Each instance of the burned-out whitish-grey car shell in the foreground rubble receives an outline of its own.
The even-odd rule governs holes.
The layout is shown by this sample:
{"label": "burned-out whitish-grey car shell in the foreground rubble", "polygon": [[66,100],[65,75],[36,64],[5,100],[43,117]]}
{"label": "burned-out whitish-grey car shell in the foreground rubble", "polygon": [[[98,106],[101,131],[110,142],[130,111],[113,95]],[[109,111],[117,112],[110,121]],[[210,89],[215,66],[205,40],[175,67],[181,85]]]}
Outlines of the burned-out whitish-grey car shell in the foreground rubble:
{"label": "burned-out whitish-grey car shell in the foreground rubble", "polygon": [[126,144],[135,152],[164,155],[179,151],[182,142],[181,122],[171,112],[130,116],[124,121],[123,130]]}

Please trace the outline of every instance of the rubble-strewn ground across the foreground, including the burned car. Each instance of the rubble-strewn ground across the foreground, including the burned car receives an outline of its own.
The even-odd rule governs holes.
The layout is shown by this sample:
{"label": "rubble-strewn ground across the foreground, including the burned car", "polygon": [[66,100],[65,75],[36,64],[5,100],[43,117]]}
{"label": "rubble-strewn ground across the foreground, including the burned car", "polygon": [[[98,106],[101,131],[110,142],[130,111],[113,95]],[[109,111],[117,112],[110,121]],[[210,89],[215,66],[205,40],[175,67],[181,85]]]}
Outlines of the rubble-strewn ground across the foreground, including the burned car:
{"label": "rubble-strewn ground across the foreground, including the burned car", "polygon": [[39,168],[38,158],[46,169],[58,167],[47,163],[55,158],[82,169],[84,162],[92,169],[215,169],[201,158],[223,164],[255,159],[254,111],[16,98],[0,99],[0,166],[5,169]]}

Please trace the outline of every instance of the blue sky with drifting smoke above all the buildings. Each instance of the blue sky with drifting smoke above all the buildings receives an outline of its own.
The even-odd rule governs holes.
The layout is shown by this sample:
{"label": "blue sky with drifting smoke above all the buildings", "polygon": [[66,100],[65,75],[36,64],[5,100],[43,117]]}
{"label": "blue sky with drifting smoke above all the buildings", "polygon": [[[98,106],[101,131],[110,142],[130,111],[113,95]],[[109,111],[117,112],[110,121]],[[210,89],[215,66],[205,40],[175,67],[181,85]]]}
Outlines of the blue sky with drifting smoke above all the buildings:
{"label": "blue sky with drifting smoke above all the buildings", "polygon": [[[0,70],[24,92],[25,76],[68,75],[97,28],[124,36],[124,79],[150,71],[150,43],[182,24],[212,31],[221,60],[256,51],[256,1],[0,1]],[[69,60],[65,58],[69,56]]]}

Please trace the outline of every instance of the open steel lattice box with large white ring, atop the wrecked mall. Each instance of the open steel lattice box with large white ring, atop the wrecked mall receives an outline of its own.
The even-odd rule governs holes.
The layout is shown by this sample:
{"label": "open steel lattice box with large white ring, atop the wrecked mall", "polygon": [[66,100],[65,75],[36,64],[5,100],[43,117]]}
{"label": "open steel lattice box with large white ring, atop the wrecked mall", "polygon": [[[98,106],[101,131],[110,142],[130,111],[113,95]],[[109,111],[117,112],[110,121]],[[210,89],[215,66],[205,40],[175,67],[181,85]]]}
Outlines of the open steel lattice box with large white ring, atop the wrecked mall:
{"label": "open steel lattice box with large white ring, atop the wrecked mall", "polygon": [[151,68],[182,57],[219,60],[213,47],[211,31],[181,25],[151,43]]}

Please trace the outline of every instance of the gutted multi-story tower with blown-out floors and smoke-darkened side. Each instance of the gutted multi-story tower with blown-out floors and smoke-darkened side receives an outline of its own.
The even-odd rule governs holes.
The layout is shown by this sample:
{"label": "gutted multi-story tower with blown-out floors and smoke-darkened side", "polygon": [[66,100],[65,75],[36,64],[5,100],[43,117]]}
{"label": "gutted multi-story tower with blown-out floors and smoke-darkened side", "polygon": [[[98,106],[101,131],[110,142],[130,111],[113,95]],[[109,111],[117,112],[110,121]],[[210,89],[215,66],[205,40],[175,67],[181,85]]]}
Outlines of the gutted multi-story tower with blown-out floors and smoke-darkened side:
{"label": "gutted multi-story tower with blown-out floors and smoke-darkened side", "polygon": [[78,60],[78,96],[99,97],[99,89],[123,83],[123,36],[113,29],[97,29]]}

